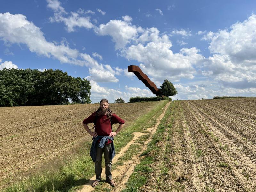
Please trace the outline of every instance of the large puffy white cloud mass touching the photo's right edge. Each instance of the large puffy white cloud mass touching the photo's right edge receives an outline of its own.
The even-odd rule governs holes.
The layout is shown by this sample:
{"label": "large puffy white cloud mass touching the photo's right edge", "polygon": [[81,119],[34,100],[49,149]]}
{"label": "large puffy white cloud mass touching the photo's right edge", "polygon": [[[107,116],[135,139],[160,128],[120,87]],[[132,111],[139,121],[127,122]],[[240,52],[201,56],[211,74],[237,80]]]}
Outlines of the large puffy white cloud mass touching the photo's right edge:
{"label": "large puffy white cloud mass touching the photo's right edge", "polygon": [[203,40],[209,41],[209,50],[214,53],[204,63],[203,75],[226,86],[256,87],[256,15],[228,29],[210,31]]}

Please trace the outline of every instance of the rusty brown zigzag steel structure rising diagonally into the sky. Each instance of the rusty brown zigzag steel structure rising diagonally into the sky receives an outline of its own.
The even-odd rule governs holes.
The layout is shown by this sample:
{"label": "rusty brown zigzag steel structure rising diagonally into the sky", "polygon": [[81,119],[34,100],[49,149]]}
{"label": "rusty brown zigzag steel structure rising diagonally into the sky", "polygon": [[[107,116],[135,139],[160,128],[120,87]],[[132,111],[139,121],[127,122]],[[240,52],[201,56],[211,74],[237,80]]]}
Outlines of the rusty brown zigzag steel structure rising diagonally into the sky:
{"label": "rusty brown zigzag steel structure rising diagonally into the sky", "polygon": [[146,85],[146,87],[150,89],[150,91],[152,91],[152,93],[156,94],[156,96],[159,95],[158,88],[156,87],[154,82],[150,81],[148,76],[141,71],[139,66],[129,65],[128,71],[134,73],[138,77],[138,79],[141,80]]}

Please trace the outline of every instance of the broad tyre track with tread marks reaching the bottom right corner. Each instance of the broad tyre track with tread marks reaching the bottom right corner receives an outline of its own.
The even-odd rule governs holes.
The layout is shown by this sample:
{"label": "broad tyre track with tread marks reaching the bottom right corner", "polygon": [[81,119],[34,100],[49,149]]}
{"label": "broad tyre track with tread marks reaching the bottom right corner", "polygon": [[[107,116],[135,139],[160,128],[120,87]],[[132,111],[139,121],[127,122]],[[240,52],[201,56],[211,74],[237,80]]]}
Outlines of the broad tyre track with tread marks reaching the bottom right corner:
{"label": "broad tyre track with tread marks reaching the bottom right corner", "polygon": [[248,189],[256,186],[256,165],[246,156],[246,154],[241,153],[242,151],[238,151],[234,146],[234,143],[229,140],[227,136],[222,134],[219,129],[212,125],[207,120],[207,117],[204,116],[195,105],[190,105],[190,107],[197,115],[199,123],[206,124],[204,131],[208,133],[210,131],[210,133],[214,134],[212,135],[212,140],[218,140],[218,143],[215,142],[215,147],[222,149],[219,149],[219,152],[222,154],[228,164],[232,165],[232,171],[236,177],[239,178],[243,182],[243,185]]}

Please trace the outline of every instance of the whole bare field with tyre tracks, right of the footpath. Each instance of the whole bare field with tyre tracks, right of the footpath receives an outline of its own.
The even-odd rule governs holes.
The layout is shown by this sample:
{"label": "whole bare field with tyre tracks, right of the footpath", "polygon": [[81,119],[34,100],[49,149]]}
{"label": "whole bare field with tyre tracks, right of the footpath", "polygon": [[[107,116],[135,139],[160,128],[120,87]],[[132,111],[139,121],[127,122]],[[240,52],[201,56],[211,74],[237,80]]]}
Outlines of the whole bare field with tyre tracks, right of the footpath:
{"label": "whole bare field with tyre tracks, right of the footpath", "polygon": [[173,102],[138,191],[256,191],[256,98]]}

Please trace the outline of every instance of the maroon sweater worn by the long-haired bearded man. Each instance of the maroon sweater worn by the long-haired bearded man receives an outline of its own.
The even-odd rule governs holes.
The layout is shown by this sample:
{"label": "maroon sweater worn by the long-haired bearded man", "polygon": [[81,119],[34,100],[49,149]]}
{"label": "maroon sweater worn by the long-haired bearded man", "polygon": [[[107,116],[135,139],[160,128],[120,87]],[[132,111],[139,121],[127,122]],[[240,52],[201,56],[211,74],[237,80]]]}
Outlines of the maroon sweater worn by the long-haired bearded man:
{"label": "maroon sweater worn by the long-haired bearded man", "polygon": [[[83,123],[84,124],[94,123],[95,117],[96,117],[96,112],[94,112],[88,118],[84,119]],[[95,132],[99,136],[109,136],[109,134],[112,132],[111,126],[115,123],[124,124],[124,120],[118,117],[115,113],[112,114],[111,124],[110,124],[110,119],[106,119],[106,118],[107,118],[107,115],[98,116],[97,118],[96,125],[95,125]],[[111,140],[108,140],[106,144],[109,144],[111,142],[112,142]]]}

